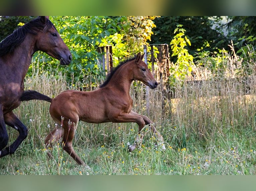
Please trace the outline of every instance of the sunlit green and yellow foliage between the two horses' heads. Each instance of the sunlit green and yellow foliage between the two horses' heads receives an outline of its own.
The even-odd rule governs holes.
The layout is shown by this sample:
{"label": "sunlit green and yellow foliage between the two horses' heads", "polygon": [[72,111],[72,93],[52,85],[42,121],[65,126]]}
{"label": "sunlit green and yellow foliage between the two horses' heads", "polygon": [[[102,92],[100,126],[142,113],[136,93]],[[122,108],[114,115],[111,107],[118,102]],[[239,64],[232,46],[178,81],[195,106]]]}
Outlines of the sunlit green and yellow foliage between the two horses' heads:
{"label": "sunlit green and yellow foliage between the two horses' heads", "polygon": [[[55,16],[50,20],[54,23],[62,39],[69,47],[73,61],[69,66],[58,66],[59,71],[66,72],[67,81],[83,82],[88,75],[104,74],[99,65],[100,46],[112,46],[114,66],[118,60],[133,56],[143,50],[143,44],[150,40],[151,19],[155,17],[110,17],[110,16]],[[143,34],[143,35],[141,35]],[[56,68],[57,62],[44,54],[36,53],[35,60],[40,60],[40,67],[47,68],[51,64]],[[28,75],[31,75],[33,65]]]}

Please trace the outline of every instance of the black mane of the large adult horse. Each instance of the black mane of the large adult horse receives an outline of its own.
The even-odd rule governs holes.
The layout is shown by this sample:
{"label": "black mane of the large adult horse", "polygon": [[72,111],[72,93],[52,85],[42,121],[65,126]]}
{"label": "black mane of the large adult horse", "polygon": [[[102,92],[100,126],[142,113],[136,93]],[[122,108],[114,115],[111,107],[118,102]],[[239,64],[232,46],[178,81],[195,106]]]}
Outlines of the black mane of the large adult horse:
{"label": "black mane of the large adult horse", "polygon": [[48,30],[52,26],[54,25],[50,20],[46,19],[46,23],[42,23],[39,17],[29,21],[25,25],[14,30],[12,34],[0,42],[0,56],[12,52],[16,46],[24,41],[27,33],[37,34],[39,31]]}

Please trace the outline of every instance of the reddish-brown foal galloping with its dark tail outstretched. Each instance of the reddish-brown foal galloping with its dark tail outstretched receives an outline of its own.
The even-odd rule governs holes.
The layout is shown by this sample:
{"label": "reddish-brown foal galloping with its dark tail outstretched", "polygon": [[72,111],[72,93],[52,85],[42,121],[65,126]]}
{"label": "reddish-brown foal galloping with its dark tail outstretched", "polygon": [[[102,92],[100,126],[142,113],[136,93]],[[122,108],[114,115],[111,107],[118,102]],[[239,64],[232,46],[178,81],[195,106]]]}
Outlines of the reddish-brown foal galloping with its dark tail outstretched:
{"label": "reddish-brown foal galloping with its dark tail outstretched", "polygon": [[[51,102],[49,112],[56,123],[62,125],[56,127],[45,138],[45,144],[51,146],[53,140],[57,141],[63,136],[63,149],[67,151],[78,164],[85,164],[75,153],[72,140],[78,121],[89,123],[104,122],[136,122],[139,125],[139,133],[146,124],[152,121],[144,115],[132,111],[133,100],[129,95],[133,80],[139,80],[151,89],[157,87],[157,82],[149,71],[147,65],[142,61],[143,55],[137,54],[135,58],[121,63],[100,86],[99,89],[83,92],[68,90],[60,93],[55,98],[50,98],[36,91],[25,91],[21,101],[39,99]],[[152,132],[163,144],[163,138],[153,125]],[[138,140],[137,136],[137,140]],[[136,143],[129,147],[134,150]]]}

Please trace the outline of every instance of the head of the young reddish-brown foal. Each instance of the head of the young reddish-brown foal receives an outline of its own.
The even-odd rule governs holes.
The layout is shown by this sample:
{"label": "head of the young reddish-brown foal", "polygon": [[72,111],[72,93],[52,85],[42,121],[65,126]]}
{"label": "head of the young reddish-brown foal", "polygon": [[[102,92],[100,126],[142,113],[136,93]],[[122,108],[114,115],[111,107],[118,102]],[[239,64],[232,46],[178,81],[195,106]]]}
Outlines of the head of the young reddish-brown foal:
{"label": "head of the young reddish-brown foal", "polygon": [[138,53],[134,60],[136,67],[134,68],[133,78],[134,80],[139,80],[143,82],[145,85],[149,86],[151,89],[154,89],[157,87],[158,84],[155,78],[153,77],[152,73],[148,69],[146,63],[142,61],[144,54],[140,55],[140,53]]}

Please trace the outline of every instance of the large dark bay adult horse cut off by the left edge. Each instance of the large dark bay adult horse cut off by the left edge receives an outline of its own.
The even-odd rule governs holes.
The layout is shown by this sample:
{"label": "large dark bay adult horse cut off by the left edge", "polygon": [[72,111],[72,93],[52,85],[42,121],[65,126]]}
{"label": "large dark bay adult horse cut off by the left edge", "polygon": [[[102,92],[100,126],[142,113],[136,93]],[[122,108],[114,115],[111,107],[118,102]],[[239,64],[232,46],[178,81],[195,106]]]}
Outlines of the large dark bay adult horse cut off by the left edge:
{"label": "large dark bay adult horse cut off by the left edge", "polygon": [[[45,16],[31,20],[0,42],[0,157],[14,153],[27,137],[26,126],[12,110],[20,105],[24,78],[32,56],[38,50],[60,60],[62,65],[68,65],[72,59],[68,47]],[[19,132],[9,147],[6,147],[6,124]]]}

